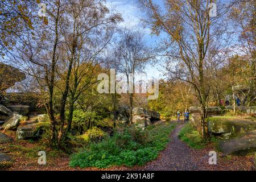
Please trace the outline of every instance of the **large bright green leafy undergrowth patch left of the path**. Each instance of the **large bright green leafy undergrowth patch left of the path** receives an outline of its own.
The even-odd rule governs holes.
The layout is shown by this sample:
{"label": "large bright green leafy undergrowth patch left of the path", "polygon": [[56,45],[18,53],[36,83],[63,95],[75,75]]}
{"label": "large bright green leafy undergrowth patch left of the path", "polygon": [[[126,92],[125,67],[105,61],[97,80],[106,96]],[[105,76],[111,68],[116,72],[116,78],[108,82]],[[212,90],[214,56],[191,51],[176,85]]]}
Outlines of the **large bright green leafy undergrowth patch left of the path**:
{"label": "large bright green leafy undergrowth patch left of the path", "polygon": [[158,157],[170,142],[175,124],[150,126],[145,131],[125,127],[99,143],[90,143],[71,156],[71,167],[143,166]]}

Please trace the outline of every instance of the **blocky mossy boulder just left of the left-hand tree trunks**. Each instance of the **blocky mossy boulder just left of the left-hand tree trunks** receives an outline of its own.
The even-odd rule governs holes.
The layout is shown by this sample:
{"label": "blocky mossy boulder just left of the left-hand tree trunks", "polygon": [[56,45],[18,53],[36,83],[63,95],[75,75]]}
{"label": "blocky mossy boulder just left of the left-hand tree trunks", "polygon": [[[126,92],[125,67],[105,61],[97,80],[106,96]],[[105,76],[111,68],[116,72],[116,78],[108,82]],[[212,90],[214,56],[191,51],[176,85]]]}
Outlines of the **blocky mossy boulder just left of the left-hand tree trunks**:
{"label": "blocky mossy boulder just left of the left-hand tree trunks", "polygon": [[19,140],[38,139],[43,133],[43,128],[37,124],[19,126],[17,129],[17,137]]}

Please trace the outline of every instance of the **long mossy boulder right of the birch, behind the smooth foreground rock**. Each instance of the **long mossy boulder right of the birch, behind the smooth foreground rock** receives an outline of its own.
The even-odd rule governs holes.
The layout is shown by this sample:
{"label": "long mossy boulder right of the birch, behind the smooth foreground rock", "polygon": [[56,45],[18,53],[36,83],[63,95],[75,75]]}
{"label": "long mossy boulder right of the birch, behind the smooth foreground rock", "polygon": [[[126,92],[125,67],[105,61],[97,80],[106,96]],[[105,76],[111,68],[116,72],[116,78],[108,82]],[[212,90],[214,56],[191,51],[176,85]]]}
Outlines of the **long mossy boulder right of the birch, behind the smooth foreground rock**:
{"label": "long mossy boulder right of the birch, behind the smooth foreground rock", "polygon": [[248,119],[226,119],[213,117],[208,120],[208,130],[212,134],[242,134],[256,129],[256,122]]}

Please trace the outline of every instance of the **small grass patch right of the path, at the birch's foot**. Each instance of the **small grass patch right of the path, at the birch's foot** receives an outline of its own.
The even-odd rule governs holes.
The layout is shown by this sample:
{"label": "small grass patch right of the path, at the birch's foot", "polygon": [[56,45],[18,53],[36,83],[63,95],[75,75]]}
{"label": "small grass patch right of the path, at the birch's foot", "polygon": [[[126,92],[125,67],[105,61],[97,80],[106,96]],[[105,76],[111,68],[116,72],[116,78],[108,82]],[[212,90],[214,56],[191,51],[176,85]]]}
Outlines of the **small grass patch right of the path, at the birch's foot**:
{"label": "small grass patch right of the path, at the birch's foot", "polygon": [[179,138],[192,148],[200,149],[205,147],[205,142],[199,131],[197,131],[191,123],[187,123],[183,129],[181,129]]}

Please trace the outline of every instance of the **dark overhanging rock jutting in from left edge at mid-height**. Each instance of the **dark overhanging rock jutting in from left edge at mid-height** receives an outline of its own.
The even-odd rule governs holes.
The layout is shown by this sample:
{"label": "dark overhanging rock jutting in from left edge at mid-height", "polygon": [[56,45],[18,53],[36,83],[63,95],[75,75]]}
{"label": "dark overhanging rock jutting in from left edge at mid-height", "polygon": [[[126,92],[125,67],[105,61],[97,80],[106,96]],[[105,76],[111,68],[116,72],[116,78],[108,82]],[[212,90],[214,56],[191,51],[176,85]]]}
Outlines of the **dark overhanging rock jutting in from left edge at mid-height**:
{"label": "dark overhanging rock jutting in from left edge at mid-height", "polygon": [[22,81],[26,75],[10,65],[0,63],[0,93],[10,88],[15,82]]}

